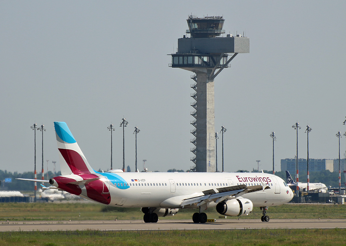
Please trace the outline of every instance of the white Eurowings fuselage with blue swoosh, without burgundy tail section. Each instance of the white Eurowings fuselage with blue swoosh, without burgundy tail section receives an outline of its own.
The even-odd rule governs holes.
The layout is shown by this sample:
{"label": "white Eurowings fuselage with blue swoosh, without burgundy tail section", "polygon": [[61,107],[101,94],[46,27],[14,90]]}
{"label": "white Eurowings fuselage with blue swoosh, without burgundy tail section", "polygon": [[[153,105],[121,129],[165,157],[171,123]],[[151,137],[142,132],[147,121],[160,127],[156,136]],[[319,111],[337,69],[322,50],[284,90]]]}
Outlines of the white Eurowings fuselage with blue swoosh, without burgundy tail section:
{"label": "white Eurowings fuselage with blue swoosh, without burgundy tail section", "polygon": [[[253,202],[254,207],[282,205],[289,202],[293,193],[286,183],[268,173],[182,173],[182,172],[104,172],[109,188],[110,206],[182,208],[184,199],[203,195],[203,191],[244,184],[265,185],[270,189],[246,193],[241,197]],[[81,187],[82,188],[82,187]],[[81,196],[88,198],[82,188]],[[215,207],[209,202],[208,207]],[[185,206],[195,208],[196,204]]]}

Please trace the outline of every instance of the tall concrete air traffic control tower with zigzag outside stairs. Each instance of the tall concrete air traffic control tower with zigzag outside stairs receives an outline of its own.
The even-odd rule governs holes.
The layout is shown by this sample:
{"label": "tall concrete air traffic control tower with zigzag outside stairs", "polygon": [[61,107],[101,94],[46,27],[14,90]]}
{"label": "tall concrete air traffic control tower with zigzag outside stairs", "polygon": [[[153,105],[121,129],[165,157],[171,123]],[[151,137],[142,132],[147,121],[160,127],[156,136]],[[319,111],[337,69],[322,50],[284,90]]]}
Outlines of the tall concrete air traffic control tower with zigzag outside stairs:
{"label": "tall concrete air traffic control tower with zigzag outside stairs", "polygon": [[230,67],[230,61],[238,53],[249,53],[249,38],[237,35],[219,37],[225,34],[222,30],[224,18],[212,16],[198,18],[189,16],[187,19],[191,37],[178,39],[178,50],[172,56],[171,67],[189,70],[195,81],[191,94],[195,102],[191,103],[194,111],[191,115],[195,120],[190,123],[195,127],[191,130],[194,138],[191,142],[195,154],[191,158],[197,172],[215,172],[215,114],[214,114],[214,79],[224,69]]}

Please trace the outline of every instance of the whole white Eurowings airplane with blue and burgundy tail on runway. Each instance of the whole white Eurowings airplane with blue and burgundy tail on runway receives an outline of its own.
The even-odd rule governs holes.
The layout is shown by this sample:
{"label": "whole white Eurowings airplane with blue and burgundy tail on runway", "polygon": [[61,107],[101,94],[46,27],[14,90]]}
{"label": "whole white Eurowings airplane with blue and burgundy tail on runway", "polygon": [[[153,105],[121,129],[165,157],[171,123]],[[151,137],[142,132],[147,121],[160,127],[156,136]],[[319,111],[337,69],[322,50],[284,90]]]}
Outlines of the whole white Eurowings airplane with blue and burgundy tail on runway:
{"label": "whole white Eurowings airplane with blue and burgundy tail on runway", "polygon": [[226,216],[245,216],[260,207],[263,222],[266,210],[285,204],[293,192],[283,179],[268,173],[229,172],[98,172],[91,168],[65,122],[54,122],[61,176],[49,182],[58,190],[114,207],[141,208],[145,223],[173,216],[179,209],[198,208],[194,223],[206,223],[203,212],[216,207]]}

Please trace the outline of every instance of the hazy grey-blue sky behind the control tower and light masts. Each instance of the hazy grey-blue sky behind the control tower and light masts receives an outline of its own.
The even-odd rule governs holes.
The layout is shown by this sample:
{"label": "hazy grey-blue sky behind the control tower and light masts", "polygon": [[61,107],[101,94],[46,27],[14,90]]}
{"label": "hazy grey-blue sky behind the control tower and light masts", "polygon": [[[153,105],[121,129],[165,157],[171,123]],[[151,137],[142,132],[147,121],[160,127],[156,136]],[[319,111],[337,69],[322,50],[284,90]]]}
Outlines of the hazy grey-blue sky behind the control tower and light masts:
{"label": "hazy grey-blue sky behind the control tower and light masts", "polygon": [[[44,124],[44,169],[59,162],[54,121],[65,121],[94,169],[125,165],[190,169],[193,73],[169,67],[188,15],[223,16],[226,34],[245,34],[239,54],[215,79],[215,126],[225,171],[275,169],[299,157],[338,158],[344,133],[346,1],[0,1],[0,169],[33,171],[35,122]],[[225,36],[226,36],[225,34]],[[40,171],[41,132],[37,136]],[[341,139],[342,157],[345,136]],[[221,139],[218,166],[221,169]],[[58,168],[58,166],[57,166]]]}

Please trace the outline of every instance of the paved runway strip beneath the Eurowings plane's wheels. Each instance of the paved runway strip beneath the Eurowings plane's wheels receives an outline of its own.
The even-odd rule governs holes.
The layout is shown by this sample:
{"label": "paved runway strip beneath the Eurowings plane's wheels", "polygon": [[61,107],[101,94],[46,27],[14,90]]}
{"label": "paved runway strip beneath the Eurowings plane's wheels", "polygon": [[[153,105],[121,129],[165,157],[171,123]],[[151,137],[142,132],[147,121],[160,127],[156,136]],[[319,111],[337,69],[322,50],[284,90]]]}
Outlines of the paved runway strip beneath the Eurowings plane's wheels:
{"label": "paved runway strip beneath the Eurowings plane's wheels", "polygon": [[[7,224],[8,223],[8,224]],[[49,230],[191,230],[256,228],[346,228],[346,219],[217,219],[214,223],[195,224],[191,220],[162,219],[157,223],[143,220],[78,221],[4,221],[0,231]]]}

